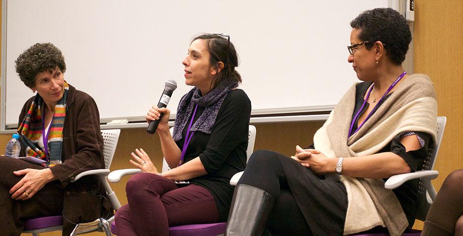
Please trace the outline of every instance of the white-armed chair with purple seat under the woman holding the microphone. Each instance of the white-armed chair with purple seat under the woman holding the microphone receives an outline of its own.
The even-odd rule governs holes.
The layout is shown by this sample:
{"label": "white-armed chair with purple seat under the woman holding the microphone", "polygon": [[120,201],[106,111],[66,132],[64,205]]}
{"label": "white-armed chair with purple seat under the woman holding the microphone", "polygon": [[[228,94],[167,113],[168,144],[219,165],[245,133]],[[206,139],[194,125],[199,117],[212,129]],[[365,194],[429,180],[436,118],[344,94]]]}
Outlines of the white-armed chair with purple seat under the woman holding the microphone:
{"label": "white-armed chair with purple seat under the woman holding the microphone", "polygon": [[[172,133],[173,128],[170,128]],[[249,125],[249,142],[248,149],[246,150],[247,160],[254,150],[254,143],[256,141],[256,127]],[[169,170],[167,162],[163,161],[163,172]],[[124,169],[117,170],[109,173],[108,180],[110,182],[119,182],[123,176],[132,175],[141,172],[140,169]],[[234,177],[234,176],[233,176]],[[235,184],[236,185],[236,184]],[[198,225],[181,225],[169,227],[169,236],[220,236],[225,233],[227,222],[213,223],[213,224],[198,224]],[[111,223],[111,233],[117,235],[116,223]]]}

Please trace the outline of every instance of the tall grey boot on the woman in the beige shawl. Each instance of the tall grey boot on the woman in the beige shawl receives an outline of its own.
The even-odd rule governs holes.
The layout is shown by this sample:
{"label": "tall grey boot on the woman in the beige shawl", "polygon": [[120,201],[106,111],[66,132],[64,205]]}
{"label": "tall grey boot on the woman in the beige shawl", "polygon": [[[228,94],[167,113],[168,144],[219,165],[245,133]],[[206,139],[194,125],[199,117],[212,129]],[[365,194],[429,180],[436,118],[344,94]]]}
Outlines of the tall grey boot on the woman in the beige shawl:
{"label": "tall grey boot on the woman in the beige shawl", "polygon": [[226,236],[260,236],[275,199],[264,190],[238,184],[233,193]]}

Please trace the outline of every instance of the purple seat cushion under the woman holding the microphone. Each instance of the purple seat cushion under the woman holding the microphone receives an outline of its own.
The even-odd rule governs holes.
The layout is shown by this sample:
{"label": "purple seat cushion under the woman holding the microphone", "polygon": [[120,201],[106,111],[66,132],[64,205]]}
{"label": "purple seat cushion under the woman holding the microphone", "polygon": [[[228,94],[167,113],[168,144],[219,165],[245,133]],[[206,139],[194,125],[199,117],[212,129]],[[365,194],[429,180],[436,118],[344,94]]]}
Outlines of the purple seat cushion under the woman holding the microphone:
{"label": "purple seat cushion under the woman holding the microphone", "polygon": [[[216,236],[224,234],[226,226],[226,222],[174,226],[169,227],[169,236]],[[111,233],[117,234],[115,221],[111,223]]]}

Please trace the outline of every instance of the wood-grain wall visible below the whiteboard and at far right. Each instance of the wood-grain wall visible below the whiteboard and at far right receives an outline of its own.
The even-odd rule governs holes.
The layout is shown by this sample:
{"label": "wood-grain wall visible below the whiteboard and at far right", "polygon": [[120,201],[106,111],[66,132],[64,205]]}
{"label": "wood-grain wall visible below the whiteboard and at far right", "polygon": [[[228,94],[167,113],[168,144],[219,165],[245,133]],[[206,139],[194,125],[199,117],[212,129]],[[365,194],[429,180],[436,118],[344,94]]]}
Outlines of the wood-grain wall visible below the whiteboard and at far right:
{"label": "wood-grain wall visible below the whiteboard and at far right", "polygon": [[[439,189],[450,172],[463,168],[460,155],[460,150],[463,149],[463,108],[460,104],[463,100],[463,1],[416,0],[415,10],[415,73],[424,73],[431,77],[437,91],[438,114],[448,118],[435,166],[440,175],[433,181],[434,186]],[[322,122],[309,121],[257,124],[255,149],[271,149],[287,155],[293,154],[297,144],[305,145],[312,142],[315,130],[321,125]],[[10,135],[0,135],[0,144],[6,144],[10,137]],[[144,148],[155,164],[161,168],[162,152],[158,137],[146,134],[144,129],[124,129],[121,132],[111,170],[131,168],[128,160],[134,148]],[[0,148],[0,153],[3,152],[3,148]],[[111,184],[122,204],[127,203],[125,196],[127,179],[128,177],[125,177],[120,183]],[[421,227],[420,223],[415,225],[415,228]],[[102,234],[90,234],[92,235]]]}

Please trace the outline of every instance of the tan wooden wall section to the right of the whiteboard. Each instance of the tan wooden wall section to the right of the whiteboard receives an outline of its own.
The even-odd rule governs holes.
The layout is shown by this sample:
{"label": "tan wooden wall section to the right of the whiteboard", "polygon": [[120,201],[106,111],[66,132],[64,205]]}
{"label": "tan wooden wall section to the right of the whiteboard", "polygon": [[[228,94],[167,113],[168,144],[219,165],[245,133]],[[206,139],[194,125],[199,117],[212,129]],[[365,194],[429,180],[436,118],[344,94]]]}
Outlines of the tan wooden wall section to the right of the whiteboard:
{"label": "tan wooden wall section to the right of the whiteboard", "polygon": [[[438,115],[447,125],[434,169],[438,190],[445,177],[463,168],[463,1],[416,0],[414,30],[415,73],[431,77],[437,93]],[[422,229],[423,223],[415,223]]]}

